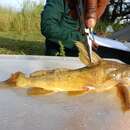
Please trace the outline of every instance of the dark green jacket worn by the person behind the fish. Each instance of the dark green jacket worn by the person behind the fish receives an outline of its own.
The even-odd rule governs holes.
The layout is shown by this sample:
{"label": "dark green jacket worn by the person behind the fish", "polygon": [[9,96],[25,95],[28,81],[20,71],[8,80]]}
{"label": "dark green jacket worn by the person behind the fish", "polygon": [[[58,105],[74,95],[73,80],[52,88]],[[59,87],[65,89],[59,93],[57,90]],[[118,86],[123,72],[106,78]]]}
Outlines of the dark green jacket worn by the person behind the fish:
{"label": "dark green jacket worn by the person behind the fish", "polygon": [[71,48],[74,41],[82,41],[79,20],[68,15],[70,11],[64,0],[47,0],[41,13],[41,32],[51,41],[61,41],[65,47]]}

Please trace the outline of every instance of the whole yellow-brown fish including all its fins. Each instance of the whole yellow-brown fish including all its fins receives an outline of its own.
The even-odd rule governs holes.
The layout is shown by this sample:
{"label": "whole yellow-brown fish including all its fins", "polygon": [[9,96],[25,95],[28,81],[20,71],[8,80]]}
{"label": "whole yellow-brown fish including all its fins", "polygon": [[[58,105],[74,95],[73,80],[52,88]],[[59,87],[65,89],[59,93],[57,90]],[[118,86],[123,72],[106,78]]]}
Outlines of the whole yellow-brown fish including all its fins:
{"label": "whole yellow-brown fish including all its fins", "polygon": [[17,88],[27,89],[28,95],[51,95],[66,92],[69,96],[99,93],[116,87],[123,99],[125,109],[130,109],[130,65],[106,60],[92,52],[92,63],[84,44],[76,42],[79,58],[84,67],[78,69],[39,70],[29,75],[23,72],[12,73],[3,81]]}

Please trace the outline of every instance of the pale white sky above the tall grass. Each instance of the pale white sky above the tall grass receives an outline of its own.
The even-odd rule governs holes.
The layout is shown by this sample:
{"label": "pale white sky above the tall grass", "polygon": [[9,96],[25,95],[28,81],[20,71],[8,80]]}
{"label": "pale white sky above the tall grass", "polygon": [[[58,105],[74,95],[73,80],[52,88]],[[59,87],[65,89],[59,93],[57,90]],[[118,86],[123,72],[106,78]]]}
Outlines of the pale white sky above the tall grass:
{"label": "pale white sky above the tall grass", "polygon": [[[26,1],[26,0],[0,0],[0,5],[5,6],[5,7],[12,7],[15,9],[20,9],[23,1]],[[39,3],[40,0],[30,0],[30,1],[35,1]]]}

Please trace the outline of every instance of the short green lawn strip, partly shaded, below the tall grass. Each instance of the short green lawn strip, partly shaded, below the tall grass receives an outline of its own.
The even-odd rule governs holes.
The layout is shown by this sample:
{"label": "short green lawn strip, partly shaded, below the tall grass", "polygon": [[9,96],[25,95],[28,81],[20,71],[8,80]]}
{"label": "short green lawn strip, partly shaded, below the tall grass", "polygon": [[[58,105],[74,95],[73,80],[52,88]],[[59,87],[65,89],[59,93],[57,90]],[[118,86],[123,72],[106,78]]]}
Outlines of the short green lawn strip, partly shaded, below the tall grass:
{"label": "short green lawn strip, partly shaded, below the tall grass", "polygon": [[0,54],[44,55],[44,38],[40,34],[0,32]]}

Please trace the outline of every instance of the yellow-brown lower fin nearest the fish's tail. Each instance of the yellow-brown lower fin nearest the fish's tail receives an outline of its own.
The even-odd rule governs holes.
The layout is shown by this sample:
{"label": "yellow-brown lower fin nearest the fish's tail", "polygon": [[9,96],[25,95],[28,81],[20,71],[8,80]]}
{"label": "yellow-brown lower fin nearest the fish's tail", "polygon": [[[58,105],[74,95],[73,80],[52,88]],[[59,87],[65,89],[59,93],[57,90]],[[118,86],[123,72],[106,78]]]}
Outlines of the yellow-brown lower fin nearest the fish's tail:
{"label": "yellow-brown lower fin nearest the fish's tail", "polygon": [[54,93],[54,91],[45,90],[43,88],[36,88],[36,87],[29,88],[27,91],[27,94],[29,96],[38,96],[38,95],[46,96],[46,95],[51,95],[52,93]]}

